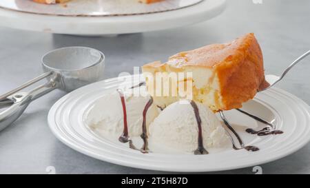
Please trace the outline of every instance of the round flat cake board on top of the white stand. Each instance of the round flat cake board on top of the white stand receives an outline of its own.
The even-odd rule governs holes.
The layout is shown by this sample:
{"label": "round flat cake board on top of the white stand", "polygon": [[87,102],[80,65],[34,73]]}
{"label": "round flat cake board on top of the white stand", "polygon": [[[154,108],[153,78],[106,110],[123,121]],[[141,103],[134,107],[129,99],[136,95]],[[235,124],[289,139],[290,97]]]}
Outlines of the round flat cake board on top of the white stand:
{"label": "round flat cake board on top of the white stand", "polygon": [[176,10],[200,1],[203,0],[165,0],[145,4],[137,0],[73,0],[65,4],[47,5],[32,0],[1,0],[0,7],[34,14],[102,17]]}

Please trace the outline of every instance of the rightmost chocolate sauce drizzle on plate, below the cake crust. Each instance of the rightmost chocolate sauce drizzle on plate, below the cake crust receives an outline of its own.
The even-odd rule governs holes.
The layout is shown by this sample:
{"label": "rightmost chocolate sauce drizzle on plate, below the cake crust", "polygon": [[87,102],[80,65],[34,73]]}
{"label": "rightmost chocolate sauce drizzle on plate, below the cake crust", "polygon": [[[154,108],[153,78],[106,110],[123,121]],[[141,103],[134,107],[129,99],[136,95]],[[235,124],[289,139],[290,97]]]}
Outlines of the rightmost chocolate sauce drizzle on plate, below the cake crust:
{"label": "rightmost chocolate sauce drizzle on plate, below the cake crust", "polygon": [[249,114],[248,112],[245,112],[242,109],[237,109],[237,110],[251,118],[254,118],[257,121],[260,121],[261,123],[265,123],[266,125],[268,125],[267,127],[260,129],[259,131],[249,128],[249,129],[245,129],[245,132],[249,134],[257,134],[258,136],[267,136],[270,134],[283,134],[281,130],[273,129],[273,125],[269,123],[268,121],[265,121],[262,118],[259,118],[258,116],[254,116],[253,114]]}

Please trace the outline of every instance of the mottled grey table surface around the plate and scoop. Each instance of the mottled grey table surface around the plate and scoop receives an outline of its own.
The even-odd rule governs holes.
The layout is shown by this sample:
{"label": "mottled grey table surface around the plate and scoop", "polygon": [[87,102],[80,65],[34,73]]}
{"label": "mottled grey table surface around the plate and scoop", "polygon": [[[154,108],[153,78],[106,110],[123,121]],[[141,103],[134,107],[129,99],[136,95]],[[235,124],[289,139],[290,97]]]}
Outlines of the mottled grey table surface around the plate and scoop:
{"label": "mottled grey table surface around the plate and scoop", "polygon": [[[0,93],[39,75],[41,56],[54,48],[84,45],[105,53],[105,78],[133,72],[133,66],[167,59],[183,50],[223,43],[247,32],[260,42],[266,73],[280,74],[297,56],[310,50],[310,1],[228,1],[218,17],[183,28],[121,34],[114,37],[82,37],[0,28]],[[289,72],[277,85],[310,104],[310,60]],[[13,125],[0,132],[0,173],[46,174],[161,174],[123,167],[90,158],[65,146],[52,134],[47,116],[50,107],[65,95],[55,90],[34,101]],[[280,160],[262,167],[265,174],[310,174],[310,143]],[[216,174],[253,174],[252,167]]]}

